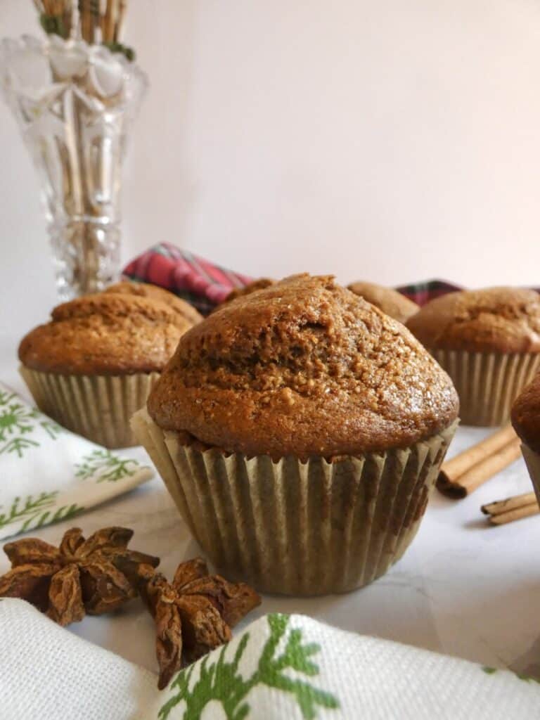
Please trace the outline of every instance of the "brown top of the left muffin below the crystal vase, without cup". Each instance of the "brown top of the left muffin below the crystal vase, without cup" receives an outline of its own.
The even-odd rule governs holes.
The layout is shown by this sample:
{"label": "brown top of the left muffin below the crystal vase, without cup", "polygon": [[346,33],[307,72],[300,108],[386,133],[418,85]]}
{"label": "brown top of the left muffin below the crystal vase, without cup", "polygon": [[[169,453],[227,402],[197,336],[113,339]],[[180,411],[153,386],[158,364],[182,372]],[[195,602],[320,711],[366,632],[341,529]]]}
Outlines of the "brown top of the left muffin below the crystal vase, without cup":
{"label": "brown top of the left muffin below the crystal vase, without cup", "polygon": [[161,300],[101,292],[55,307],[19,345],[23,365],[42,372],[161,371],[192,323]]}

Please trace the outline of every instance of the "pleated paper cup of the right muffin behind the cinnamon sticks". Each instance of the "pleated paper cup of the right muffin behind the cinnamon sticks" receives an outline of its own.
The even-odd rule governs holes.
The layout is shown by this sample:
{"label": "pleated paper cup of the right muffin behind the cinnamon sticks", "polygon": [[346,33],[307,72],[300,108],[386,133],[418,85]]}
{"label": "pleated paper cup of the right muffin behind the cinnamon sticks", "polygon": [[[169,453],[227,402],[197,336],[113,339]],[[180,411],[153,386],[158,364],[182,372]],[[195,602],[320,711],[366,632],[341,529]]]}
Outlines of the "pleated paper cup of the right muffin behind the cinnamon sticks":
{"label": "pleated paper cup of the right muffin behind the cinnamon sticks", "polygon": [[539,353],[430,352],[454,383],[463,425],[508,423],[513,401],[540,370]]}

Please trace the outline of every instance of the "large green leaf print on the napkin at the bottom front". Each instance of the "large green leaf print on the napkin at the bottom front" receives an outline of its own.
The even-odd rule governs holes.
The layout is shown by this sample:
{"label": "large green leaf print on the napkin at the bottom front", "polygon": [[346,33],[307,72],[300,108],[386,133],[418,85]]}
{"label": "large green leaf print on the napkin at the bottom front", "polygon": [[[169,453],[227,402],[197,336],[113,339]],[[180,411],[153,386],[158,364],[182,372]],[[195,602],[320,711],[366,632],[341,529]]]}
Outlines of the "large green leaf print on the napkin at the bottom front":
{"label": "large green leaf print on the napkin at the bottom front", "polygon": [[251,711],[246,697],[257,685],[266,685],[294,696],[305,720],[317,717],[318,706],[338,708],[339,702],[331,693],[284,673],[284,670],[290,668],[308,677],[319,674],[318,665],[315,665],[310,658],[320,651],[320,646],[316,643],[302,644],[302,630],[291,629],[284,652],[275,657],[277,646],[287,632],[289,619],[289,616],[281,614],[268,616],[269,639],[264,644],[256,670],[246,680],[238,672],[238,664],[248,644],[248,632],[240,639],[231,662],[225,659],[227,645],[222,648],[217,661],[210,665],[209,656],[204,657],[199,664],[199,678],[191,689],[189,682],[197,665],[191,665],[179,672],[171,685],[171,688],[177,689],[178,693],[163,705],[159,711],[159,719],[167,720],[171,710],[184,701],[186,703],[184,720],[197,720],[207,703],[215,700],[222,704],[228,720],[244,720],[249,717]]}

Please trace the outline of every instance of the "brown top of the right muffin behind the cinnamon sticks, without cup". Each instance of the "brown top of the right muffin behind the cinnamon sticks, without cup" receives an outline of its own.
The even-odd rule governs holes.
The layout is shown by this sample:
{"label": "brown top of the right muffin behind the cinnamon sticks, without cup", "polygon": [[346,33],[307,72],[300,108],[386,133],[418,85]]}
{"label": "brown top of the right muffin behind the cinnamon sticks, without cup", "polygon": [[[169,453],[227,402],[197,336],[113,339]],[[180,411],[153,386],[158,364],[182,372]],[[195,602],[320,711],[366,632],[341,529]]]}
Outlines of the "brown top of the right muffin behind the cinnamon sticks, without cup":
{"label": "brown top of the right muffin behind the cinnamon sticks, without cup", "polygon": [[540,295],[518,287],[451,292],[431,300],[407,327],[431,350],[540,352]]}

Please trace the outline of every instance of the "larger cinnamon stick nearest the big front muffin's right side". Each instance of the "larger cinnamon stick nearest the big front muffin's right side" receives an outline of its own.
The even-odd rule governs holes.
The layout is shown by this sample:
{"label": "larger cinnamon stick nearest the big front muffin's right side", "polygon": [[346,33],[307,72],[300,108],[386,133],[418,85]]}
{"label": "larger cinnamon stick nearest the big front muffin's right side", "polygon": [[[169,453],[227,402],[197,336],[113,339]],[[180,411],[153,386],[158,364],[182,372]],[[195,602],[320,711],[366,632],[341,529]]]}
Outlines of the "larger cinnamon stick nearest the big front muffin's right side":
{"label": "larger cinnamon stick nearest the big front muffin's right side", "polygon": [[521,454],[521,442],[508,425],[490,437],[445,462],[437,478],[437,488],[454,500],[466,498],[483,482],[497,474]]}

